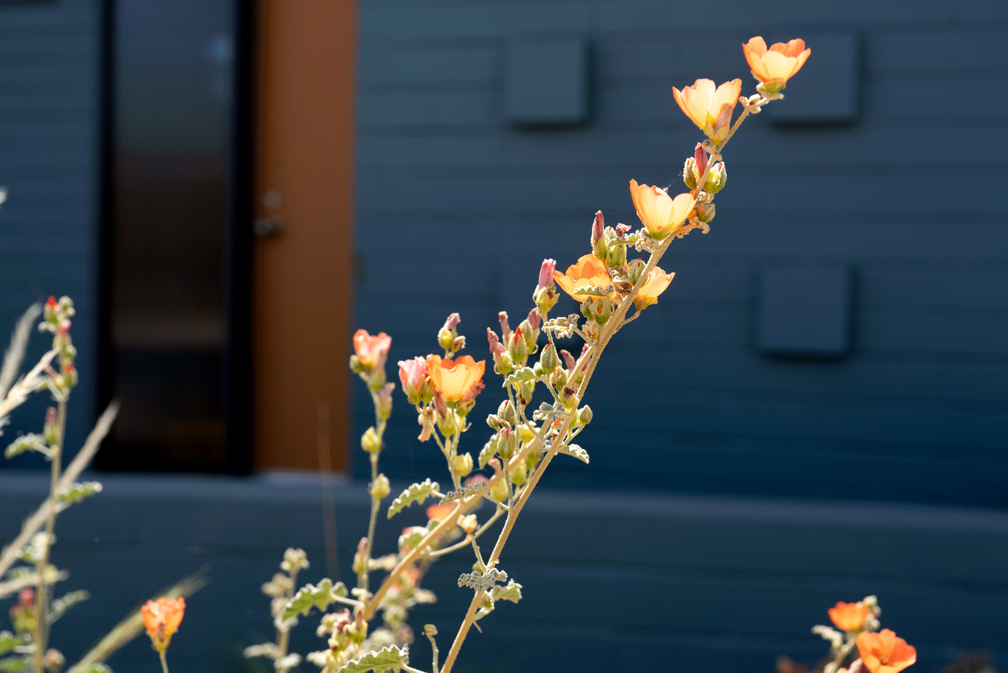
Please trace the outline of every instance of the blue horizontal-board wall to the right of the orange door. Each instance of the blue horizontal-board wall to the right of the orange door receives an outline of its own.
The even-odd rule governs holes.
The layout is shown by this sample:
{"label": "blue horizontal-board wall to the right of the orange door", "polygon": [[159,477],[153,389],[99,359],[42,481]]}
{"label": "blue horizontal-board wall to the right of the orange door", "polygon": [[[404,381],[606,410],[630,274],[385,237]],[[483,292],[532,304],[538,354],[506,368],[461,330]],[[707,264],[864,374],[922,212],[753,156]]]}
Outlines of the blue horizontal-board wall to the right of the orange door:
{"label": "blue horizontal-board wall to the right of the orange door", "polygon": [[[792,100],[727,148],[712,232],[673,245],[671,287],[598,370],[592,465],[547,481],[1005,504],[1006,21],[993,1],[362,3],[356,325],[390,333],[394,363],[460,311],[486,356],[497,311],[520,320],[539,260],[586,252],[597,209],[636,224],[631,178],[680,184],[701,134],[671,87],[740,77],[752,93],[741,42],[802,36]],[[556,38],[590,46],[590,121],[509,124],[509,49]],[[774,118],[827,95],[840,119]],[[760,351],[758,289],[781,267],[850,277],[845,356]],[[500,399],[487,380],[474,451]],[[388,471],[420,477],[438,452],[399,407]]]}

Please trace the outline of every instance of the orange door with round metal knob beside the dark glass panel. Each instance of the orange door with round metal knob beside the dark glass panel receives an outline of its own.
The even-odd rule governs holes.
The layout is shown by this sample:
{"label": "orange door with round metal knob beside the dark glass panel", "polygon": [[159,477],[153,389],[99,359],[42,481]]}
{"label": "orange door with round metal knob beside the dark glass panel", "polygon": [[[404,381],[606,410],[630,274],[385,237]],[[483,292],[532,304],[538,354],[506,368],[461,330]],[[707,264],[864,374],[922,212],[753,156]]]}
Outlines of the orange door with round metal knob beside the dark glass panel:
{"label": "orange door with round metal knob beside the dark glass panel", "polygon": [[259,1],[252,430],[260,470],[348,466],[355,4]]}

